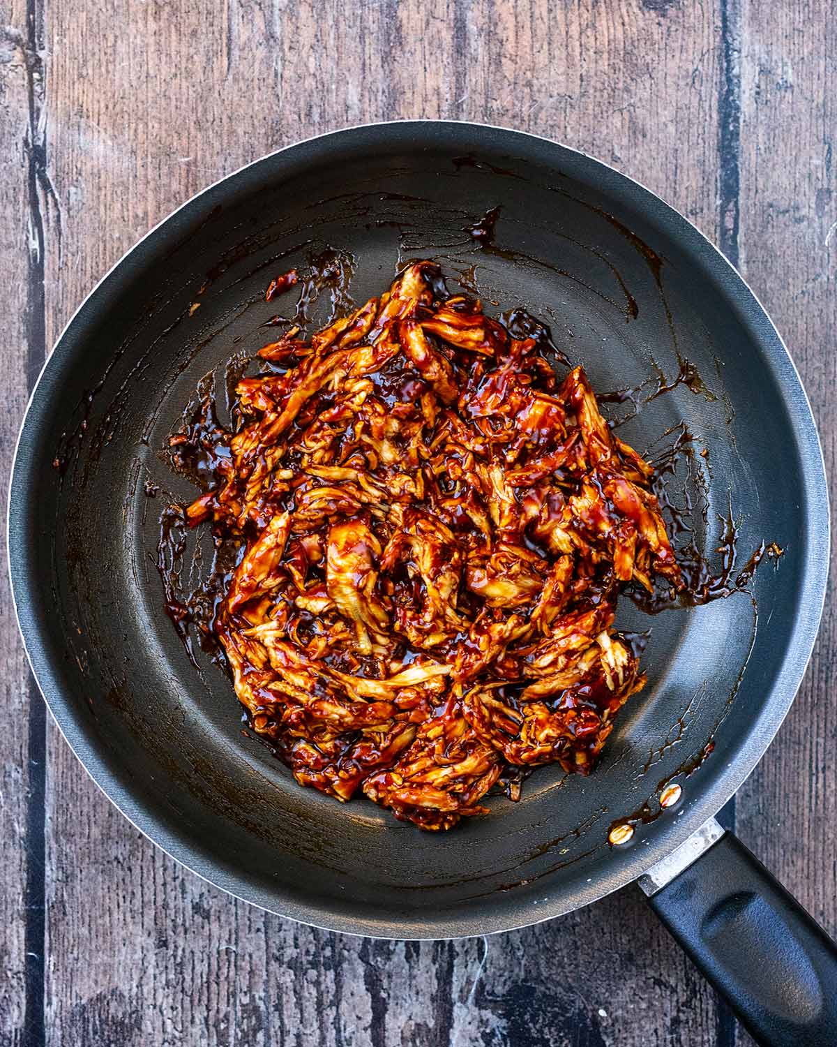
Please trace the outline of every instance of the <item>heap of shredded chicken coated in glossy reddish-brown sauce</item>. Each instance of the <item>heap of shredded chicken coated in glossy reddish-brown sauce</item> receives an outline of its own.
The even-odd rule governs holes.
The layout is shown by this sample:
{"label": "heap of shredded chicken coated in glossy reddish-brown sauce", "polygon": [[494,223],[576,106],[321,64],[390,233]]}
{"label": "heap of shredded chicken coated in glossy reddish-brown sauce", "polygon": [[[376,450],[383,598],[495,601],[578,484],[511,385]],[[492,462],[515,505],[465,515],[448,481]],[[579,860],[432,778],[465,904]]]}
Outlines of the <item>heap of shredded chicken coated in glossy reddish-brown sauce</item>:
{"label": "heap of shredded chicken coated in glossy reddish-brown sauce", "polygon": [[187,508],[241,547],[217,630],[253,730],[300,784],[426,829],[510,764],[589,773],[646,681],[617,596],[680,572],[584,371],[430,262],[259,355]]}

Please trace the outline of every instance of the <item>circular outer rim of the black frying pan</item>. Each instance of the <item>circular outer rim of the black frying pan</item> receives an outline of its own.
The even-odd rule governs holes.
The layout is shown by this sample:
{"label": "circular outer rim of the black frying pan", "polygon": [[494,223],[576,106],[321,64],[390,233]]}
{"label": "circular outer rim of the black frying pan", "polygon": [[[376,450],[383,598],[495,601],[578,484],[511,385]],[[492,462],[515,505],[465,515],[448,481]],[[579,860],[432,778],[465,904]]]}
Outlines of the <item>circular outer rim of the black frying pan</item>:
{"label": "circular outer rim of the black frying pan", "polygon": [[[670,230],[673,229],[672,235],[676,237],[691,257],[703,259],[704,263],[709,266],[712,275],[725,284],[725,296],[730,302],[731,307],[734,304],[734,308],[742,317],[742,322],[762,329],[756,340],[766,358],[769,358],[779,370],[785,371],[782,376],[782,387],[786,395],[789,414],[793,418],[794,433],[805,473],[807,497],[804,518],[807,522],[809,541],[804,555],[804,564],[800,567],[799,607],[801,612],[794,626],[791,642],[775,673],[770,694],[762,707],[753,729],[746,735],[734,763],[721,768],[720,774],[705,784],[694,806],[685,810],[676,823],[671,823],[664,838],[662,833],[659,833],[656,839],[648,841],[647,847],[634,848],[630,852],[630,856],[626,856],[615,871],[609,870],[601,878],[595,877],[595,882],[591,881],[586,887],[582,887],[575,892],[565,891],[549,896],[549,892],[546,890],[547,896],[540,901],[538,908],[535,910],[529,908],[525,913],[520,911],[520,904],[516,908],[512,904],[512,896],[507,896],[508,905],[502,907],[502,913],[499,917],[482,913],[481,909],[488,909],[488,906],[470,905],[467,911],[454,919],[447,918],[446,914],[443,914],[443,918],[439,919],[425,913],[414,917],[365,919],[347,908],[340,912],[334,910],[326,912],[316,903],[306,899],[300,901],[289,892],[271,892],[253,885],[244,874],[236,873],[234,868],[222,864],[218,855],[211,854],[197,841],[174,832],[153,809],[143,805],[141,801],[135,800],[130,787],[125,783],[123,768],[120,770],[115,761],[101,750],[100,745],[91,743],[80,717],[75,715],[72,700],[65,698],[62,693],[54,660],[50,659],[46,645],[41,640],[36,616],[32,614],[31,598],[24,581],[25,572],[22,564],[27,555],[24,539],[24,524],[27,517],[25,513],[17,511],[15,495],[25,490],[25,482],[22,478],[24,468],[22,465],[23,438],[27,432],[27,427],[36,425],[31,419],[39,398],[43,398],[46,402],[50,399],[50,394],[44,393],[45,376],[58,369],[62,359],[62,344],[65,342],[68,332],[84,312],[88,310],[98,312],[100,307],[97,307],[95,299],[106,293],[107,285],[116,271],[135,251],[159,233],[175,216],[189,208],[197,211],[202,199],[223,183],[233,183],[245,173],[270,163],[282,155],[298,153],[312,143],[317,143],[321,150],[321,156],[327,155],[327,152],[338,141],[346,141],[347,138],[362,136],[364,133],[367,135],[388,135],[390,140],[393,137],[398,139],[399,135],[402,135],[405,147],[414,147],[415,133],[422,130],[432,131],[432,129],[439,131],[447,129],[451,134],[456,133],[456,131],[460,133],[467,131],[471,135],[488,134],[487,146],[495,149],[503,144],[512,148],[515,142],[527,143],[530,150],[540,149],[543,154],[551,153],[551,156],[546,157],[546,159],[555,166],[559,166],[561,160],[564,162],[570,160],[576,164],[585,165],[588,172],[592,169],[600,176],[605,176],[610,181],[611,187],[616,185],[623,193],[629,192],[634,199],[644,203],[646,207],[650,208],[654,221],[664,225]],[[529,157],[526,159],[530,162]],[[719,263],[721,264],[719,265]],[[755,335],[753,337],[755,338]],[[69,352],[69,349],[66,349],[66,352]],[[694,223],[636,179],[581,150],[557,142],[553,139],[528,132],[467,120],[415,119],[355,125],[325,134],[313,135],[244,164],[231,174],[219,178],[176,207],[122,254],[96,283],[67,321],[32,387],[15,447],[8,488],[7,535],[13,606],[32,676],[67,744],[99,789],[138,831],[202,879],[234,897],[255,905],[257,908],[325,930],[369,937],[415,940],[456,938],[516,930],[563,915],[605,897],[641,875],[720,809],[755,767],[790,710],[801,683],[816,640],[824,604],[830,552],[830,511],[824,462],[816,423],[793,358],[767,310],[744,277]]]}

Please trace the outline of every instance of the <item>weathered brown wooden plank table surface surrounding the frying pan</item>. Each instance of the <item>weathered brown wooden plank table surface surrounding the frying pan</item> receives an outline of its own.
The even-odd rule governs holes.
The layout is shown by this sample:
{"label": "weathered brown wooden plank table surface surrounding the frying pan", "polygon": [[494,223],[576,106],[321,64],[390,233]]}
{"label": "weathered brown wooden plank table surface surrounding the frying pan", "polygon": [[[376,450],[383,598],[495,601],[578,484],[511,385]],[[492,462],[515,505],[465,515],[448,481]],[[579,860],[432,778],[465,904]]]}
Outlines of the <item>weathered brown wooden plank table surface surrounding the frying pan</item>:
{"label": "weathered brown wooden plank table surface surrounding the frying pan", "polygon": [[[837,451],[837,20],[824,0],[3,0],[3,486],[78,302],[173,207],[296,139],[481,120],[601,157],[695,222],[765,303]],[[834,136],[834,141],[833,141]],[[781,492],[776,492],[781,496]],[[369,941],[207,886],[88,779],[0,658],[0,1045],[748,1043],[629,888],[530,930]],[[837,932],[837,600],[726,817]]]}

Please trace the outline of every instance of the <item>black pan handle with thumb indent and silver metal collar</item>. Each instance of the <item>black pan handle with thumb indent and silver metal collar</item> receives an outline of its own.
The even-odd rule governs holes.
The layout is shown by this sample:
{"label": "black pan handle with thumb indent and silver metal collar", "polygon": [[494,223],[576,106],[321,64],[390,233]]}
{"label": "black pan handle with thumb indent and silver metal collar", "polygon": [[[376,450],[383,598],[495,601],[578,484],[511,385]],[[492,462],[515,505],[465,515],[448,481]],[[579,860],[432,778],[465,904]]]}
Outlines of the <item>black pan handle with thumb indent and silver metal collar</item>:
{"label": "black pan handle with thumb indent and silver metal collar", "polygon": [[756,1043],[837,1044],[837,945],[714,818],[639,886]]}

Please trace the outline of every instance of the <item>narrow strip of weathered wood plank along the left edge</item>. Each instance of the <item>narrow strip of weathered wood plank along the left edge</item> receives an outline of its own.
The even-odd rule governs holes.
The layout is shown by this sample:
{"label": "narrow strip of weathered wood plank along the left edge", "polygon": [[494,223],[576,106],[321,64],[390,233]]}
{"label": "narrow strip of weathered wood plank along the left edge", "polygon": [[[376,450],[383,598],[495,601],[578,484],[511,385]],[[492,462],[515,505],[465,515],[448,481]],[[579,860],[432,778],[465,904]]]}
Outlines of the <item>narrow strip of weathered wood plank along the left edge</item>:
{"label": "narrow strip of weathered wood plank along the left edge", "polygon": [[[37,26],[24,3],[13,0],[0,16],[0,271],[4,273],[5,380],[0,410],[0,504],[26,404],[31,374],[43,354],[33,181],[41,112]],[[45,711],[29,680],[8,587],[6,535],[0,538],[0,1043],[25,1044],[40,1024],[43,986],[43,774]],[[31,688],[31,691],[30,691]],[[30,861],[26,862],[29,846]],[[31,992],[27,994],[27,988]],[[27,996],[29,1007],[27,1008]],[[32,1010],[31,1004],[35,1004]]]}

